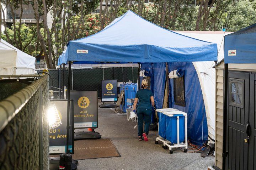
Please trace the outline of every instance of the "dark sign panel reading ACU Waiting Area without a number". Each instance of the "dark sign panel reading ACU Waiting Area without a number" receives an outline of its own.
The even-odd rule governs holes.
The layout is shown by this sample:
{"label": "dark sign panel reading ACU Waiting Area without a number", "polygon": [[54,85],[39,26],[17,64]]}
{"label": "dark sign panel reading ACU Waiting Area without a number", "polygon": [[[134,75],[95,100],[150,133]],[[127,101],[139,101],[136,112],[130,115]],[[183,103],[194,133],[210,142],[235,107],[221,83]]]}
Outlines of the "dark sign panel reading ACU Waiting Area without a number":
{"label": "dark sign panel reading ACU Waiting Area without a number", "polygon": [[97,91],[70,91],[74,100],[74,128],[98,128]]}

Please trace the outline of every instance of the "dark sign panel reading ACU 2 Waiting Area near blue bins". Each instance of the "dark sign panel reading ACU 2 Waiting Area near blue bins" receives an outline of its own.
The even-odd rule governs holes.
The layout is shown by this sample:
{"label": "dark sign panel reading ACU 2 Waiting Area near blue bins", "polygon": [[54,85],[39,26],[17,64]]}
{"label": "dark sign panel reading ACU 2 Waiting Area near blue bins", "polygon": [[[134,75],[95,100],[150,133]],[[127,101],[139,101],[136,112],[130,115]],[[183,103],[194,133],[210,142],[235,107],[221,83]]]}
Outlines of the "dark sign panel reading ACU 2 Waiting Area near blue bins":
{"label": "dark sign panel reading ACU 2 Waiting Area near blue bins", "polygon": [[117,101],[117,80],[101,80],[101,102]]}

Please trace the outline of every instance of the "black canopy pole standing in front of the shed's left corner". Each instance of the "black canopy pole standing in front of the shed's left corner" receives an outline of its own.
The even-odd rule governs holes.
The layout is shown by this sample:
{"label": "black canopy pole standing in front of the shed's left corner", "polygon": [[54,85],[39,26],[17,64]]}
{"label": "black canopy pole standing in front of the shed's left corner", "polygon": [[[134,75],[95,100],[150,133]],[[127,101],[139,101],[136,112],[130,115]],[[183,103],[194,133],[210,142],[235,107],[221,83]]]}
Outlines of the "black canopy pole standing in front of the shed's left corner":
{"label": "black canopy pole standing in front of the shed's left corner", "polygon": [[223,144],[222,144],[222,170],[226,169],[226,122],[228,114],[228,64],[224,64],[224,112],[223,112]]}

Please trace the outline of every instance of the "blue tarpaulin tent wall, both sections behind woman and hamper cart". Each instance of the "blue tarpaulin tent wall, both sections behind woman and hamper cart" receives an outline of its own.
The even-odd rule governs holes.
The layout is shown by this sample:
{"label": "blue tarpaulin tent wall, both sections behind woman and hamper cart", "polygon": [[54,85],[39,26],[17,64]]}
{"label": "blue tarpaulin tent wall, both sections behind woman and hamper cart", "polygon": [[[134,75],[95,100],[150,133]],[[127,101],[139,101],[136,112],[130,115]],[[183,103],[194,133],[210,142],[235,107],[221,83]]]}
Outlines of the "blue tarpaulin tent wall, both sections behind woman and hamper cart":
{"label": "blue tarpaulin tent wall, both sections behind woman and hamper cart", "polygon": [[[151,91],[154,94],[156,108],[162,108],[164,102],[164,91],[165,91],[165,63],[144,63],[141,64],[140,70],[146,70],[151,76]],[[178,106],[174,103],[174,81],[169,79],[169,107],[179,109],[182,112],[186,112],[187,119],[187,131],[188,139],[196,144],[203,145],[208,138],[208,128],[206,111],[204,107],[203,94],[199,83],[196,69],[192,62],[175,62],[168,63],[168,71],[171,72],[174,69],[182,69],[184,73],[184,88],[185,88],[185,103],[186,107]],[[140,77],[142,81],[143,77]],[[165,115],[158,113],[158,117],[161,122],[159,125],[159,135],[161,137],[166,136],[166,122]],[[154,123],[155,113],[152,112],[152,120]]]}

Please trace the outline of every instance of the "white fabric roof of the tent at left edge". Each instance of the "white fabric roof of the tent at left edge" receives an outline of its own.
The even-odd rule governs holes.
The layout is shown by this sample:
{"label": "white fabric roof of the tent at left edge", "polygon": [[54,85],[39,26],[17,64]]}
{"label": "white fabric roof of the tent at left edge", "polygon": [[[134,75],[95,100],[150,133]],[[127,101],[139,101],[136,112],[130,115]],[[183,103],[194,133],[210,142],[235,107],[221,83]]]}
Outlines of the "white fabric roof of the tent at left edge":
{"label": "white fabric roof of the tent at left edge", "polygon": [[5,40],[0,42],[1,68],[31,68],[35,69],[36,58],[17,49]]}

